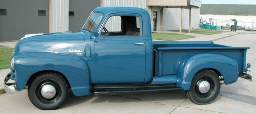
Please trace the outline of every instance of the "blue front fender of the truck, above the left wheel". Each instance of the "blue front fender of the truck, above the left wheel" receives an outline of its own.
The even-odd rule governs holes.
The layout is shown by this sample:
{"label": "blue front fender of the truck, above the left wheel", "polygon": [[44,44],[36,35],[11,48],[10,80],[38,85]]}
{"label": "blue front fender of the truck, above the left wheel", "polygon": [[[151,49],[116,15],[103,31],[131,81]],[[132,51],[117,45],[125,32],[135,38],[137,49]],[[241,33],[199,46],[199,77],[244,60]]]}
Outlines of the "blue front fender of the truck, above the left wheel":
{"label": "blue front fender of the truck, above the left wheel", "polygon": [[74,95],[89,95],[92,90],[87,62],[79,56],[56,53],[22,53],[14,59],[17,90],[21,91],[28,79],[38,71],[58,71],[71,86]]}

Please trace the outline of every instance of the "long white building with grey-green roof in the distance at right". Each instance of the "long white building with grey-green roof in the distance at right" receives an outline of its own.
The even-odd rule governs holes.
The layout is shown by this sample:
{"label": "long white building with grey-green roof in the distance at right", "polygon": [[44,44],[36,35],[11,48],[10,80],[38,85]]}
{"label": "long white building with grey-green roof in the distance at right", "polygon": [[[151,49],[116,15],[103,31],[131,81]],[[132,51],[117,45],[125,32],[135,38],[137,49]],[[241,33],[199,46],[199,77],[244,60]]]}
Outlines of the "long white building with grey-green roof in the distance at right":
{"label": "long white building with grey-green roof in the distance at right", "polygon": [[239,21],[238,26],[252,27],[253,20],[256,20],[256,5],[202,4],[200,18],[220,26],[225,26],[226,21],[236,19]]}

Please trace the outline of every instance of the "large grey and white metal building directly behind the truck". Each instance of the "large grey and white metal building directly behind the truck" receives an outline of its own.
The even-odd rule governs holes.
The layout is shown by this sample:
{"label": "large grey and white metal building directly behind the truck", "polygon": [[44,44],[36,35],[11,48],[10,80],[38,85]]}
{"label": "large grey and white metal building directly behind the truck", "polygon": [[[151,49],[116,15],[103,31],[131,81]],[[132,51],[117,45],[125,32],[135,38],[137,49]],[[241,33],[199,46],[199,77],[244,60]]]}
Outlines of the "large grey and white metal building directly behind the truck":
{"label": "large grey and white metal building directly behind the truck", "polygon": [[98,6],[145,8],[154,31],[199,27],[201,2],[196,0],[0,0],[0,42],[32,33],[79,30]]}

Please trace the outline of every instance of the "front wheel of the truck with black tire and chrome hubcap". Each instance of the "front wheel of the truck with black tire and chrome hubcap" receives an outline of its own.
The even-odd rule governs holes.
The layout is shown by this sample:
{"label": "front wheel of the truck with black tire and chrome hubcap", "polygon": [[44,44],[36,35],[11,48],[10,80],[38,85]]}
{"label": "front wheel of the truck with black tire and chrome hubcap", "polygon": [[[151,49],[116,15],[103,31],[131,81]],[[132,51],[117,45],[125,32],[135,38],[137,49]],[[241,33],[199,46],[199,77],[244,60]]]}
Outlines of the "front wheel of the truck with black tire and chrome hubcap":
{"label": "front wheel of the truck with black tire and chrome hubcap", "polygon": [[28,87],[32,104],[42,110],[54,110],[68,99],[66,80],[56,73],[42,73],[34,77]]}

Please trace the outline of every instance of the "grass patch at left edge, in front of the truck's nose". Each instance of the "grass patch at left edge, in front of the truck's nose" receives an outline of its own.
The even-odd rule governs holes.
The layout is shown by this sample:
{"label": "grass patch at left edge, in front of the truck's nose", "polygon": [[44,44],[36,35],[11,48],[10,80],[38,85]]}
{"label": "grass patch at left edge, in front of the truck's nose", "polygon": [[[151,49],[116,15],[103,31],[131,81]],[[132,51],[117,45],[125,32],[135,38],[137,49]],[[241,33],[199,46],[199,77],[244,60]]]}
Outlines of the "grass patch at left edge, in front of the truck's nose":
{"label": "grass patch at left edge, in front of the truck's nose", "polygon": [[0,70],[10,68],[12,50],[12,48],[0,48]]}

